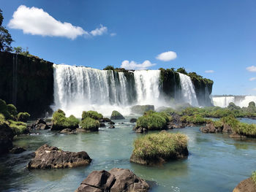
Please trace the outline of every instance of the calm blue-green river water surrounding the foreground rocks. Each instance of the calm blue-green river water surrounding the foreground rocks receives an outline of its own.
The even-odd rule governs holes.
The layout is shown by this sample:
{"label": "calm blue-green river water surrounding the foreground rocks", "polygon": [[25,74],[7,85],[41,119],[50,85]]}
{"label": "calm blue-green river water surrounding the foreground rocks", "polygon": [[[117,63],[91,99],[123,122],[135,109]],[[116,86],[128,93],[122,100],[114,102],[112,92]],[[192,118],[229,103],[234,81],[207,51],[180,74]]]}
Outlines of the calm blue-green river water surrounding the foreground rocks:
{"label": "calm blue-green river water surrounding the foreground rocks", "polygon": [[[170,130],[187,134],[189,158],[162,166],[130,163],[132,142],[141,136],[132,131],[133,125],[127,118],[117,120],[116,128],[100,128],[98,133],[37,131],[17,137],[14,144],[28,150],[0,158],[0,191],[75,191],[91,171],[119,167],[153,181],[151,191],[226,192],[256,170],[256,139],[241,141],[227,134],[202,134],[199,127]],[[45,143],[62,150],[85,150],[93,161],[89,166],[72,169],[27,170],[29,154]]]}

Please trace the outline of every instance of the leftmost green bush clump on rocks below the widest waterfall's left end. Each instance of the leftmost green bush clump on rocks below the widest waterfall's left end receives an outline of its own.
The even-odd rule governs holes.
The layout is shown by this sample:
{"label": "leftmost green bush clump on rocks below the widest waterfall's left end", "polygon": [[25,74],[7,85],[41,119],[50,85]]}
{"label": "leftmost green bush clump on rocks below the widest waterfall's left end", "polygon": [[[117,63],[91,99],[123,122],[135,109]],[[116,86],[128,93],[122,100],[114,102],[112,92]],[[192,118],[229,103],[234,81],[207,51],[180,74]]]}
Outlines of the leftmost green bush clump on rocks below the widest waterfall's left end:
{"label": "leftmost green bush clump on rocks below the widest waterfall's left end", "polygon": [[78,128],[79,120],[73,115],[66,118],[64,111],[57,110],[53,113],[53,130],[62,130],[64,128]]}

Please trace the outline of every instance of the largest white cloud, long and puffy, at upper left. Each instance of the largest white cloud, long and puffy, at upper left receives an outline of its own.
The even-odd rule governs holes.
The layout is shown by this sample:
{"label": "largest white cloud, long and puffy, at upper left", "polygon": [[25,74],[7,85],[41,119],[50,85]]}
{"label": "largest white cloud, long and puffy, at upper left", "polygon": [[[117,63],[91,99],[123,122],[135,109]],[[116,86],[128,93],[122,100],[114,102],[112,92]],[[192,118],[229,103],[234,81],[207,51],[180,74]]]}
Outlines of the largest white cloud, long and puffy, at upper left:
{"label": "largest white cloud, long and puffy, at upper left", "polygon": [[25,5],[20,5],[13,13],[8,26],[21,29],[24,34],[67,37],[69,39],[75,39],[88,33],[79,26],[72,26],[71,23],[61,23],[61,21],[56,20],[43,9],[37,7],[29,8]]}

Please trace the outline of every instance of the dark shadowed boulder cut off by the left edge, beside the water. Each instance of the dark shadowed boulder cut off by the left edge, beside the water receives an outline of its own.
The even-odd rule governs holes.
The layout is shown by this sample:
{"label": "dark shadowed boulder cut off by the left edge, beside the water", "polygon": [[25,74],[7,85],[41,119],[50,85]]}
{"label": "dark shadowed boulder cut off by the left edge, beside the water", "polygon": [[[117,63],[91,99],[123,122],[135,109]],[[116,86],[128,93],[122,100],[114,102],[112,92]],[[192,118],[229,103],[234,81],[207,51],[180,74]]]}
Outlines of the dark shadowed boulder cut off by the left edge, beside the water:
{"label": "dark shadowed boulder cut off by the left edge, beside the water", "polygon": [[14,133],[7,123],[0,124],[0,155],[8,153],[12,149]]}

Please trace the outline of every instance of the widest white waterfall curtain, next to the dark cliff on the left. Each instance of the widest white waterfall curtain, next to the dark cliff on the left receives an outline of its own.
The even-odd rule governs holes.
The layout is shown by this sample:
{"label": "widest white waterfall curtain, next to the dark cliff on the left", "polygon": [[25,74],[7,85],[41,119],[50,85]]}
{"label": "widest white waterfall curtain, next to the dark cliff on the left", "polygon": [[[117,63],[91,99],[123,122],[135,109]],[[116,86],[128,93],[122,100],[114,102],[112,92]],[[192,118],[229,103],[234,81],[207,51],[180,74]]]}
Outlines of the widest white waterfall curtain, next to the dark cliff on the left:
{"label": "widest white waterfall curtain, next to the dark cliff on the left", "polygon": [[[110,115],[110,107],[121,112],[128,106],[127,80],[123,72],[82,66],[53,65],[53,110],[80,117],[83,110],[97,110]],[[119,107],[118,107],[119,106]]]}

